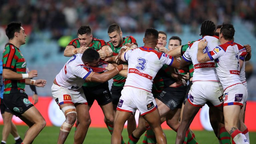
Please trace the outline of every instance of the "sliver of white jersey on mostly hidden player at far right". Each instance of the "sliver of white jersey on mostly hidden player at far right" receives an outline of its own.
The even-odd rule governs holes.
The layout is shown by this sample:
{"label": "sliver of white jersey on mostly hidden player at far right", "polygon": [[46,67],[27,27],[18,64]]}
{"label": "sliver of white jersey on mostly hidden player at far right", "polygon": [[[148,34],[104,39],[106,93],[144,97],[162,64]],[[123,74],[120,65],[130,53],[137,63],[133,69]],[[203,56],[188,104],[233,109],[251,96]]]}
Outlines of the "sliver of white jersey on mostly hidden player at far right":
{"label": "sliver of white jersey on mostly hidden player at far right", "polygon": [[238,43],[235,43],[238,47],[238,50],[239,50],[239,59],[244,61],[243,62],[243,65],[242,65],[242,68],[240,69],[240,80],[242,83],[245,83],[246,82],[246,78],[245,78],[245,57],[247,55],[247,52],[246,52],[246,49],[238,44]]}

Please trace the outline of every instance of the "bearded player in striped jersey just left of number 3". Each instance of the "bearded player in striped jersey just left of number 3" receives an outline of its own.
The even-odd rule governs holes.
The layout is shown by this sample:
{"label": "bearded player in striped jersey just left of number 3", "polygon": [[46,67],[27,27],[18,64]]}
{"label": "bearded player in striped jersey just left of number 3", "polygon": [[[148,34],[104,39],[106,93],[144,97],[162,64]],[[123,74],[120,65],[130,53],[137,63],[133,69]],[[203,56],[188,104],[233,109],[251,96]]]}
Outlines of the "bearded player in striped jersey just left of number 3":
{"label": "bearded player in striped jersey just left of number 3", "polygon": [[[119,63],[117,59],[117,55],[125,44],[134,44],[134,48],[137,48],[136,39],[133,36],[126,36],[123,37],[123,33],[121,28],[117,24],[112,24],[108,27],[108,36],[110,41],[107,43],[113,51],[113,56],[106,58],[105,61],[109,63]],[[119,98],[121,97],[121,91],[123,90],[123,86],[125,83],[126,77],[121,75],[116,75],[113,77],[113,84],[111,86],[111,96],[112,96],[112,103],[114,112],[116,111],[117,104],[119,102]],[[127,120],[127,131],[128,136],[132,134],[132,132],[136,129],[136,121],[134,115]]]}

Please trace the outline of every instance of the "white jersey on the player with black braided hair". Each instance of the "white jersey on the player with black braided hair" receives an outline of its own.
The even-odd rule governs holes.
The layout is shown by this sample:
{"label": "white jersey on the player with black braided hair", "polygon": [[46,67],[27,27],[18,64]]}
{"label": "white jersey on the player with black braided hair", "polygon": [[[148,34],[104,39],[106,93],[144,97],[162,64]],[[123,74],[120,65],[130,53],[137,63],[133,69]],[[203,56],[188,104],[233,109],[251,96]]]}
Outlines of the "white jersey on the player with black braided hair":
{"label": "white jersey on the player with black braided hair", "polygon": [[[216,46],[220,45],[219,37],[217,36],[205,36],[204,39],[206,39],[206,41],[208,42],[207,46],[204,49],[204,53],[212,51]],[[199,41],[194,42],[193,45],[189,47],[182,56],[185,61],[192,62],[194,65],[193,82],[219,82],[220,80],[216,72],[214,60],[206,63],[199,63],[197,61],[198,43]]]}

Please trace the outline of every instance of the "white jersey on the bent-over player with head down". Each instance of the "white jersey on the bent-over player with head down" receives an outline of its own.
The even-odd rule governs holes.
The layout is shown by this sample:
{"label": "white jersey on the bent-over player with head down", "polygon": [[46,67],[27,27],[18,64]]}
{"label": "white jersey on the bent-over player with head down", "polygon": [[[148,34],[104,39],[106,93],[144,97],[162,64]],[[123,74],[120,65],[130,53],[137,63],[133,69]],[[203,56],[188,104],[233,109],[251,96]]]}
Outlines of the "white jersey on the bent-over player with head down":
{"label": "white jersey on the bent-over player with head down", "polygon": [[79,90],[85,79],[92,72],[82,61],[83,54],[76,54],[68,60],[64,67],[56,76],[56,82],[59,86],[69,90]]}

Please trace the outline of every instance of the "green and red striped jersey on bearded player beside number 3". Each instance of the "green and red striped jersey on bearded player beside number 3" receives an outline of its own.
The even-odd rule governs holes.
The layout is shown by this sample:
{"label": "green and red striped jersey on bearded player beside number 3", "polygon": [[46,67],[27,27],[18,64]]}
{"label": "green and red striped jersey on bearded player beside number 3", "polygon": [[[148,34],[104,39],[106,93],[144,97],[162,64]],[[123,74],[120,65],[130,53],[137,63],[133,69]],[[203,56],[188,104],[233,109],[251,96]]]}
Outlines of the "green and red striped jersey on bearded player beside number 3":
{"label": "green and red striped jersey on bearded player beside number 3", "polygon": [[[138,46],[136,39],[133,36],[127,36],[123,38],[123,42],[120,44],[118,48],[115,48],[114,45],[109,41],[107,44],[110,46],[110,48],[113,51],[113,56],[117,56],[121,47],[127,43],[134,43]],[[116,75],[113,77],[113,84],[114,86],[124,86],[126,78],[121,75]]]}

